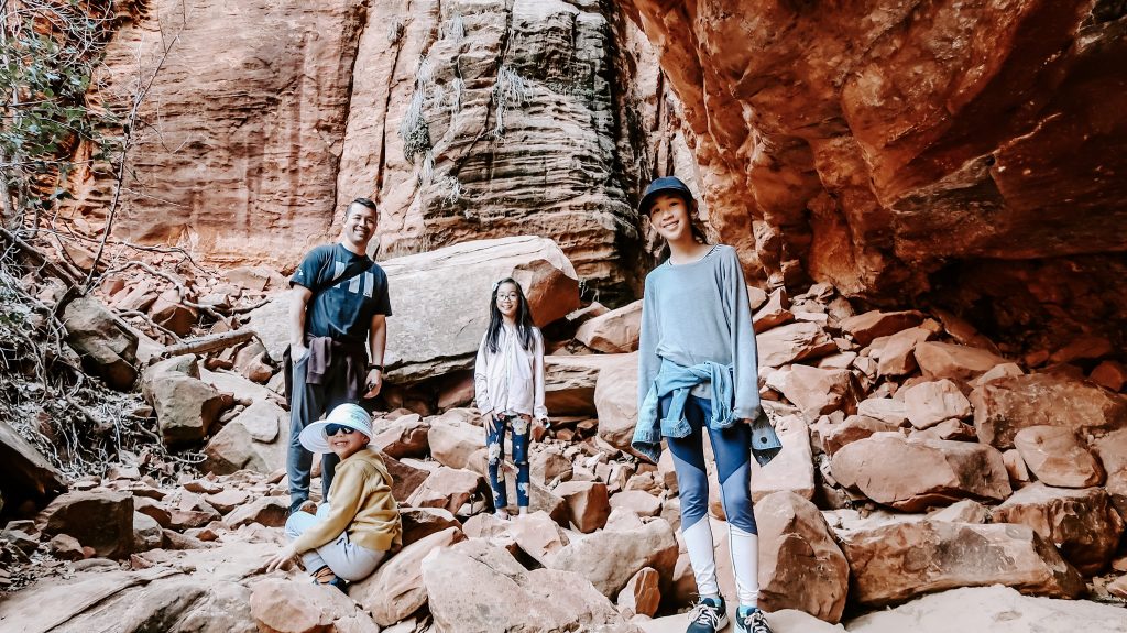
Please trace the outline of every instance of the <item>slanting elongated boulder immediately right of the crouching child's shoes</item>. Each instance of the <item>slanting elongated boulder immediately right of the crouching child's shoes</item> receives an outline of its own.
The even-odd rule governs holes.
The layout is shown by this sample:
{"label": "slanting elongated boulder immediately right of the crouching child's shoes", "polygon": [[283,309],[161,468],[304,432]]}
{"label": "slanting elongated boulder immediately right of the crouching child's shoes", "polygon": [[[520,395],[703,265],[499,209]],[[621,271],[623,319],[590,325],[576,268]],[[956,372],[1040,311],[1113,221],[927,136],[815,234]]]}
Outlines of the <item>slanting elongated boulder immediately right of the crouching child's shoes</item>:
{"label": "slanting elongated boulder immediately right of the crouching child's shoes", "polygon": [[427,601],[426,587],[423,586],[423,559],[435,550],[464,540],[461,529],[449,527],[416,541],[380,565],[375,573],[354,582],[348,595],[372,613],[376,624],[391,626]]}

